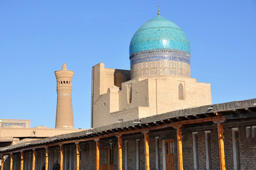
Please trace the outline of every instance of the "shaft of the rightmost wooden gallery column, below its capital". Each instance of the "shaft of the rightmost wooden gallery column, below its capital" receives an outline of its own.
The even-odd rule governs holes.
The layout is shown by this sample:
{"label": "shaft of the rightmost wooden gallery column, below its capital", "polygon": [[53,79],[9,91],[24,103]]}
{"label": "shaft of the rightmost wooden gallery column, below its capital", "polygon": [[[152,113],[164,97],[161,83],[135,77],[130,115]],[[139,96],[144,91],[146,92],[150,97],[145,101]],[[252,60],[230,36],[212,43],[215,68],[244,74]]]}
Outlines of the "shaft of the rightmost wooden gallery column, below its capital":
{"label": "shaft of the rightmost wooden gallery column, below its capital", "polygon": [[224,140],[223,140],[223,123],[218,123],[218,139],[219,139],[219,166],[221,170],[226,170]]}

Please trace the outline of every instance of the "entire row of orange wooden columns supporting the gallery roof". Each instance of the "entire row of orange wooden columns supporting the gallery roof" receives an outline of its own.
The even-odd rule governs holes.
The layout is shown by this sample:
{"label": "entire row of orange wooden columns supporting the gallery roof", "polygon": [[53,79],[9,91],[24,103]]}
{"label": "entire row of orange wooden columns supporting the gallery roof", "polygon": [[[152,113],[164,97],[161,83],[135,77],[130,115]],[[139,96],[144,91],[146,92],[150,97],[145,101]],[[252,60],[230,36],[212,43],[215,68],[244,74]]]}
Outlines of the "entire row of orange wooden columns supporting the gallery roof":
{"label": "entire row of orange wooden columns supporting the gallery roof", "polygon": [[[217,130],[218,130],[218,139],[219,139],[219,162],[220,162],[220,169],[226,170],[225,166],[225,156],[224,156],[224,140],[223,140],[223,122],[225,119],[217,119],[213,122],[217,124]],[[173,128],[176,128],[177,131],[177,143],[178,143],[178,165],[179,170],[183,170],[183,153],[182,153],[182,140],[181,140],[181,128],[182,124],[176,124],[175,126],[172,126]],[[142,133],[144,134],[145,139],[145,170],[150,169],[149,165],[149,130],[143,130]],[[118,138],[118,169],[123,169],[123,162],[122,162],[122,135],[116,135]],[[100,139],[95,139],[96,142],[96,170],[100,170]],[[76,159],[77,159],[77,170],[80,170],[80,143],[75,142],[76,144]],[[35,149],[33,149],[33,164],[32,164],[32,170],[35,170]],[[10,170],[13,170],[13,158],[14,155],[10,154]],[[23,161],[24,160],[24,154],[23,151],[21,152],[21,170],[23,170]],[[1,170],[3,170],[3,164],[4,157],[2,155],[1,157]],[[46,160],[45,160],[45,166],[46,169],[48,169],[48,162],[49,162],[49,149],[46,148]],[[63,170],[63,146],[60,145],[60,170]]]}

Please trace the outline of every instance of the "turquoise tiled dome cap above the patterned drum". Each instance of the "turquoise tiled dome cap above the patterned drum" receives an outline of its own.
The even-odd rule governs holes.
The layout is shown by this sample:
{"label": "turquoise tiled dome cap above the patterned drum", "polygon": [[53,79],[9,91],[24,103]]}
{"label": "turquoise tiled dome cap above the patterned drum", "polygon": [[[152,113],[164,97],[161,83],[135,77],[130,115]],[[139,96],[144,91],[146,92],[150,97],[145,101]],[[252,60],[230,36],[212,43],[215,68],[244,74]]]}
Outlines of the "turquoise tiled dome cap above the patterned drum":
{"label": "turquoise tiled dome cap above the patterned drum", "polygon": [[143,24],[133,35],[130,43],[130,58],[142,51],[158,49],[177,50],[190,54],[190,45],[185,33],[174,22],[160,15]]}

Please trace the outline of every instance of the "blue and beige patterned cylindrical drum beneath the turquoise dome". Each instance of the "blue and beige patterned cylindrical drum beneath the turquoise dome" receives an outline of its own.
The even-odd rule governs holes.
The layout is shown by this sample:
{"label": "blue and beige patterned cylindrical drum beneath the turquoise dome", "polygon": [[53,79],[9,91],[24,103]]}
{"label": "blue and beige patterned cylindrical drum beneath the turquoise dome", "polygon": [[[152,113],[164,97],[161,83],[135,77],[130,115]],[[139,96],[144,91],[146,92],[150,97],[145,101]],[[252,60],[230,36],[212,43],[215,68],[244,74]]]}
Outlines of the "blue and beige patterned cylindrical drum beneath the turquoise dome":
{"label": "blue and beige patterned cylindrical drum beneath the turquoise dome", "polygon": [[159,49],[136,53],[130,58],[131,78],[183,76],[190,78],[190,55],[183,51]]}

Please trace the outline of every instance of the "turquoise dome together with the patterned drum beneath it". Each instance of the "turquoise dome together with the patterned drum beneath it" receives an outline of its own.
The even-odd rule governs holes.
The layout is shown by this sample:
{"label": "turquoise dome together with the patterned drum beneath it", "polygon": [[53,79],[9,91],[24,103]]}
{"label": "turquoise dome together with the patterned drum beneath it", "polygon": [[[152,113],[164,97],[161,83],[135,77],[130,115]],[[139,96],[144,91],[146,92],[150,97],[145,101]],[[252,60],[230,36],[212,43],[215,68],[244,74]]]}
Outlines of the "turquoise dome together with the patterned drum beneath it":
{"label": "turquoise dome together with the patterned drum beneath it", "polygon": [[131,76],[190,77],[190,45],[185,33],[158,15],[134,34],[130,44]]}

